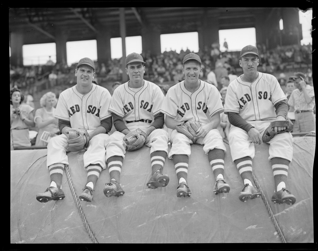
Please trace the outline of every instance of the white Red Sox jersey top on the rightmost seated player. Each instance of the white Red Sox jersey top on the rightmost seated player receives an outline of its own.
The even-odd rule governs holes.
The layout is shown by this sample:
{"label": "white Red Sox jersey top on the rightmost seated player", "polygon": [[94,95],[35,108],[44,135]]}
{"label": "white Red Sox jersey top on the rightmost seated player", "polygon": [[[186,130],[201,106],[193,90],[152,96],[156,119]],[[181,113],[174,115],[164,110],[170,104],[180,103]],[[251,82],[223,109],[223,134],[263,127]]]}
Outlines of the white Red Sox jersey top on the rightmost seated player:
{"label": "white Red Sox jersey top on the rightmost seated player", "polygon": [[245,121],[276,119],[274,105],[287,98],[273,75],[258,74],[252,83],[243,81],[242,75],[230,83],[225,96],[225,114],[237,113]]}

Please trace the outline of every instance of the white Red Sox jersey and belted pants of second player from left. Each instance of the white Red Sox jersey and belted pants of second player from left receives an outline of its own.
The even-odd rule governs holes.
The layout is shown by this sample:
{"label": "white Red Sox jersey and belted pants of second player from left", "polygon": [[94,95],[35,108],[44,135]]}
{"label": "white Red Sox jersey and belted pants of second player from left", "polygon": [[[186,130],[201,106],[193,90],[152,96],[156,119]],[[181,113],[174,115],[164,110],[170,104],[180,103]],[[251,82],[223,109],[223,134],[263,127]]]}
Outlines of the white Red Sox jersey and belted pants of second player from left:
{"label": "white Red Sox jersey and belted pants of second player from left", "polygon": [[[128,82],[118,86],[112,96],[109,111],[122,117],[130,131],[136,129],[144,130],[154,121],[155,115],[160,113],[160,107],[164,100],[164,95],[160,87],[152,82],[144,80],[141,88],[132,89],[128,87]],[[106,160],[112,156],[125,157],[125,150],[121,147],[114,147],[112,140],[122,140],[124,134],[115,131],[105,143],[107,145]],[[153,144],[156,140],[156,144]],[[150,153],[154,151],[168,152],[168,133],[163,129],[155,129],[147,137]],[[125,143],[123,143],[125,144]]]}

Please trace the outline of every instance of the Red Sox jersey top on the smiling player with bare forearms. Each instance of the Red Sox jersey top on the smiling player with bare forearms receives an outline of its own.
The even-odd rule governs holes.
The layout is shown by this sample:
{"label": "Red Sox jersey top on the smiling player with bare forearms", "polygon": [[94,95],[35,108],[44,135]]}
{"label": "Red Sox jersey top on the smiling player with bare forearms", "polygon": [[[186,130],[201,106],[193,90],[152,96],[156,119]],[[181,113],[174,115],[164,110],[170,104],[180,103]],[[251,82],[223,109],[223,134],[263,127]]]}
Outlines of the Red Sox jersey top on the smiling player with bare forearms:
{"label": "Red Sox jersey top on the smiling player with bare forearms", "polygon": [[161,112],[178,122],[194,120],[209,123],[211,117],[223,112],[221,94],[218,89],[202,80],[195,92],[189,92],[184,80],[169,88],[161,106]]}

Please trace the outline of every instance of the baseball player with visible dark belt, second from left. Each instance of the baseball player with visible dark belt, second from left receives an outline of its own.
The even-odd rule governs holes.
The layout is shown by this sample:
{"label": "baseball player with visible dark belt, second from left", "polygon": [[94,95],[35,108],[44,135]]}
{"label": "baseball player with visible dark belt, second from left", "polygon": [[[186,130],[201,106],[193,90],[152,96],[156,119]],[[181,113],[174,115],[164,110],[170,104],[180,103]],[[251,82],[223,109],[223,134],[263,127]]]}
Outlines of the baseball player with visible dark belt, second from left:
{"label": "baseball player with visible dark belt, second from left", "polygon": [[[112,96],[109,111],[113,113],[117,131],[105,142],[110,174],[110,182],[104,188],[107,197],[125,193],[120,185],[120,173],[126,148],[134,151],[143,145],[150,147],[152,175],[148,188],[165,187],[169,182],[169,176],[162,174],[168,153],[168,133],[162,129],[164,114],[160,112],[164,95],[158,85],[143,79],[144,64],[140,54],[129,54],[126,58],[129,81],[118,86]],[[127,145],[124,140],[136,131],[140,131],[141,135],[134,146]]]}

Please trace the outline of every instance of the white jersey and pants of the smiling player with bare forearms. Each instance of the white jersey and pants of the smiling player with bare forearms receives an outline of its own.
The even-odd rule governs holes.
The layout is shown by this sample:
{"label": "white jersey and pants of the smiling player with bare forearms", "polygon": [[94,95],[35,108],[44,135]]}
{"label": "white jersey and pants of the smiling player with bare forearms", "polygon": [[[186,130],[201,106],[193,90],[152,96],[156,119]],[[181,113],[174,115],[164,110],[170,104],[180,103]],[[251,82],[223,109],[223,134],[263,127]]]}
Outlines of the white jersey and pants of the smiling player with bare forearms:
{"label": "white jersey and pants of the smiling player with bare forearms", "polygon": [[[222,98],[218,89],[214,85],[210,85],[202,80],[199,81],[199,88],[192,93],[185,88],[184,81],[171,86],[162,103],[161,112],[180,123],[191,120],[199,122],[201,125],[209,123],[213,115],[223,112]],[[175,134],[178,134],[176,129],[171,132],[171,144]],[[197,144],[202,144],[203,141],[206,142],[205,139],[208,137],[220,140],[204,144],[203,150],[206,153],[214,148],[226,151],[218,129],[212,129],[204,139],[199,138]],[[182,148],[172,144],[168,154],[169,159],[172,159],[174,154],[186,154],[189,156],[190,144],[192,143],[188,141],[184,142]]]}

